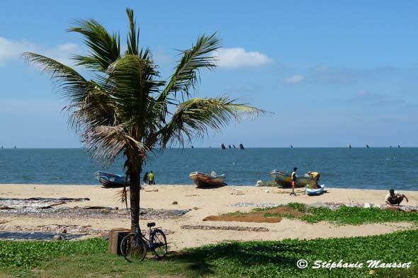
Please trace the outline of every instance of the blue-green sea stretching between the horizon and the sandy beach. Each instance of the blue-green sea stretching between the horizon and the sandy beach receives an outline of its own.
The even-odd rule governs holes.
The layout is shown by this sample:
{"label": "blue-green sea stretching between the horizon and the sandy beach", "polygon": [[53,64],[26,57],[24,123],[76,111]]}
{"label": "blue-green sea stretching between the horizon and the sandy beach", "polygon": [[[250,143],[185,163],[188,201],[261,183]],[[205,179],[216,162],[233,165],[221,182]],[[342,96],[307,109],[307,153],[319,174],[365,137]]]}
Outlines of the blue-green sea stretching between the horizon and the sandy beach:
{"label": "blue-green sea stretching between the horizon and the sandy beach", "polygon": [[[0,149],[0,184],[99,185],[97,170],[123,174],[123,158],[106,168],[84,149]],[[154,151],[143,166],[157,184],[192,185],[194,171],[227,176],[227,185],[272,180],[273,169],[321,173],[327,187],[418,190],[418,148],[184,148]]]}

